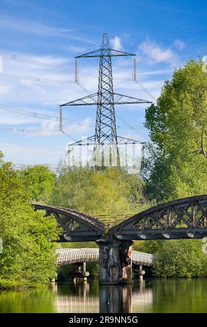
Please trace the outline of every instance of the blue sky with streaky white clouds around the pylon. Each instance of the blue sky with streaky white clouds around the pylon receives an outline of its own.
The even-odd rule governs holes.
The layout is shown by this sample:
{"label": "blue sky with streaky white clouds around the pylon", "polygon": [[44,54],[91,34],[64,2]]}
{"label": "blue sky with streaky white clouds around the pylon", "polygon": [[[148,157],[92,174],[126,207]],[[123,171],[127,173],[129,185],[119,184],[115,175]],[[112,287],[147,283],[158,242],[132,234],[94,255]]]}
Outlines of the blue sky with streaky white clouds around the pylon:
{"label": "blue sky with streaky white clouds around the pylon", "polygon": [[[64,110],[68,136],[51,131],[59,123],[47,116],[58,117],[59,104],[96,92],[98,60],[79,60],[78,86],[74,57],[97,49],[102,33],[111,47],[137,54],[139,83],[130,80],[132,58],[113,58],[114,92],[157,98],[176,67],[207,55],[206,7],[185,0],[1,0],[0,149],[6,159],[55,167],[67,143],[94,134],[93,106]],[[117,106],[118,135],[146,141],[144,112],[142,105]]]}

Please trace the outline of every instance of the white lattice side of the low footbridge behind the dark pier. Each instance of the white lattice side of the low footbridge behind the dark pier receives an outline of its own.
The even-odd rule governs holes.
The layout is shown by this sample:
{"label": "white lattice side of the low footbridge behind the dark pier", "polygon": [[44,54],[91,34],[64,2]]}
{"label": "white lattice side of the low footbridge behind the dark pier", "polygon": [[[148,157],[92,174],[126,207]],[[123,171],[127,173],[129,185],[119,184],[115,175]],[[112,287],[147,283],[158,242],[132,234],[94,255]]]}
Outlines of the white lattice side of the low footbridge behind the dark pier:
{"label": "white lattice side of the low footbridge behind the dark pier", "polygon": [[[57,264],[75,264],[77,262],[98,262],[99,248],[61,248],[56,250]],[[132,262],[142,266],[153,265],[153,255],[132,251]]]}

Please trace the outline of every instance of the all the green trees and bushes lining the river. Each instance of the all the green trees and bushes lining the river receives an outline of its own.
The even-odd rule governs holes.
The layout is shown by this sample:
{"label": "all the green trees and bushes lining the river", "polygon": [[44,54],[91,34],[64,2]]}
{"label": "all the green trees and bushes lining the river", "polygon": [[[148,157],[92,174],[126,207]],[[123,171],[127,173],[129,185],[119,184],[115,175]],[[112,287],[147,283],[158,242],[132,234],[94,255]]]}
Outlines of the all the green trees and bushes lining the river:
{"label": "all the green trees and bushes lining the river", "polygon": [[[56,275],[54,250],[61,230],[56,220],[34,212],[31,202],[71,207],[91,215],[133,214],[185,196],[207,192],[207,74],[190,61],[165,81],[157,104],[146,109],[151,142],[141,176],[125,170],[67,168],[57,173],[37,165],[15,170],[0,160],[0,287],[44,285]],[[64,244],[93,247],[89,244]],[[157,257],[153,276],[206,277],[200,240],[136,241],[134,250]],[[90,264],[97,274],[97,265]],[[66,267],[59,278],[66,277]]]}

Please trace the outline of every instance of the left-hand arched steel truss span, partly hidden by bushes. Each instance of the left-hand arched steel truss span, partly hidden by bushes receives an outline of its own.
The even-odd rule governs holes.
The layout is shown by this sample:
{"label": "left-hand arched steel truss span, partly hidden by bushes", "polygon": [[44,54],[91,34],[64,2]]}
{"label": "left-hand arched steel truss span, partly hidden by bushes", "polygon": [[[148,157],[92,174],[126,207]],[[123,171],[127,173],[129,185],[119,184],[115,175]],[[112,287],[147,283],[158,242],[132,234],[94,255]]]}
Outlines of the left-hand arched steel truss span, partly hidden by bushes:
{"label": "left-hand arched steel truss span, partly hidden by bushes", "polygon": [[36,210],[45,210],[47,216],[54,214],[63,228],[60,241],[95,241],[104,233],[103,225],[98,218],[83,212],[51,205],[33,205],[33,207]]}

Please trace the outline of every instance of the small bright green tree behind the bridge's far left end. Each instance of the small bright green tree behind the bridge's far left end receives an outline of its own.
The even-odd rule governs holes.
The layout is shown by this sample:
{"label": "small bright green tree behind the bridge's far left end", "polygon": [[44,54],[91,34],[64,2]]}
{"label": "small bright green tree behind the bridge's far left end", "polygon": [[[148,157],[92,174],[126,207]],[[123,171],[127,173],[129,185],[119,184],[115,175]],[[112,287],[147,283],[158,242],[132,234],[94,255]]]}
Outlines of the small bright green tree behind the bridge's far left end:
{"label": "small bright green tree behind the bridge's far left end", "polygon": [[55,174],[47,166],[36,165],[20,170],[26,191],[32,200],[48,202],[54,189]]}

